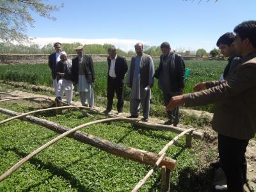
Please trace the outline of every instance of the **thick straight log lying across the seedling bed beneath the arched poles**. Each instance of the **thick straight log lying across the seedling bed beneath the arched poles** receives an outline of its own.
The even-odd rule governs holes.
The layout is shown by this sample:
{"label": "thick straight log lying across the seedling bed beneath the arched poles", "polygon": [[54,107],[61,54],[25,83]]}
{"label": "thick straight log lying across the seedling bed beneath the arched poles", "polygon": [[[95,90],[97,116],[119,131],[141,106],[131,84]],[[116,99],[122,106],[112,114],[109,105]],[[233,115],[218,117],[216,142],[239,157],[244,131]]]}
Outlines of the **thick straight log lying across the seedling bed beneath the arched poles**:
{"label": "thick straight log lying across the seedling bed beneath the arched poles", "polygon": [[[8,109],[3,109],[3,108],[0,108],[0,112],[6,115],[12,115],[12,116],[19,115],[19,113],[15,111],[10,111]],[[44,120],[42,118],[37,118],[34,116],[24,116],[24,120],[28,120],[29,122],[42,125],[44,127],[51,129],[54,132],[58,132],[61,134],[63,132],[70,130],[68,127],[65,127],[63,125],[56,124],[54,122],[50,122],[48,120]],[[76,131],[73,134],[69,134],[67,136],[70,138],[74,138],[77,141],[81,141],[82,143],[86,143],[88,145],[92,145],[93,147],[97,147],[102,150],[105,150],[110,154],[124,157],[126,159],[131,159],[133,161],[138,161],[143,164],[154,164],[159,157],[159,155],[155,153],[147,152],[145,150],[140,150],[137,148],[123,147],[116,143],[111,143],[108,140],[103,140],[91,134],[87,134],[86,132]],[[164,157],[163,161],[161,162],[161,166],[164,165],[166,166],[166,168],[173,170],[175,168],[176,163],[177,161],[175,161],[174,159],[171,159],[169,157]]]}

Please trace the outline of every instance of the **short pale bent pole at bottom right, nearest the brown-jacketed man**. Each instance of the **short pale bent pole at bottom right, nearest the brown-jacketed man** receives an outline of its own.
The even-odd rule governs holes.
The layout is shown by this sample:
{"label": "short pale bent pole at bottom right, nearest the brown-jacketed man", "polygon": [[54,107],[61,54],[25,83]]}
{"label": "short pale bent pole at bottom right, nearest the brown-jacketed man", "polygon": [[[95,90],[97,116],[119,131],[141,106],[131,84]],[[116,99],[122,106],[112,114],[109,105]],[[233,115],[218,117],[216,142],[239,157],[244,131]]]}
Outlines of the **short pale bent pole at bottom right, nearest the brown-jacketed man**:
{"label": "short pale bent pole at bottom right, nearest the brown-jacketed man", "polygon": [[180,137],[184,136],[184,134],[188,133],[188,132],[193,132],[195,129],[191,128],[191,129],[187,129],[186,131],[183,131],[182,133],[180,133],[179,135],[175,136],[175,138],[173,138],[172,141],[170,141],[169,143],[167,143],[164,148],[158,153],[160,155],[159,159],[157,159],[156,163],[154,164],[153,168],[147,173],[147,175],[145,175],[145,177],[143,179],[140,180],[140,182],[138,182],[138,184],[132,189],[132,192],[138,191],[141,186],[143,186],[143,184],[145,184],[145,182],[147,181],[147,179],[154,173],[154,171],[159,167],[159,164],[161,163],[161,161],[163,161],[164,156],[166,155],[166,151],[168,150],[168,148],[175,142],[177,141]]}

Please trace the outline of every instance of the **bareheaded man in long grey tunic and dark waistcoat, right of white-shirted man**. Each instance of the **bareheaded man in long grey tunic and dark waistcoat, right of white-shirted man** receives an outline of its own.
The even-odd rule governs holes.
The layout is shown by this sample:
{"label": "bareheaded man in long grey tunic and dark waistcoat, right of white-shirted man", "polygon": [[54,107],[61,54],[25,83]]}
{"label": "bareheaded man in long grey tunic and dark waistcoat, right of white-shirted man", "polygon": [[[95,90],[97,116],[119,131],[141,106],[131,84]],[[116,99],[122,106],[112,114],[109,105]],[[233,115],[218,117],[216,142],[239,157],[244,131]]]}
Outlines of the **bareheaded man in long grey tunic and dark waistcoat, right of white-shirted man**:
{"label": "bareheaded man in long grey tunic and dark waistcoat, right of white-shirted man", "polygon": [[143,44],[135,46],[137,56],[132,57],[127,74],[127,86],[131,88],[129,118],[138,118],[140,104],[143,108],[143,120],[148,121],[151,90],[154,85],[154,62],[150,56],[143,53]]}

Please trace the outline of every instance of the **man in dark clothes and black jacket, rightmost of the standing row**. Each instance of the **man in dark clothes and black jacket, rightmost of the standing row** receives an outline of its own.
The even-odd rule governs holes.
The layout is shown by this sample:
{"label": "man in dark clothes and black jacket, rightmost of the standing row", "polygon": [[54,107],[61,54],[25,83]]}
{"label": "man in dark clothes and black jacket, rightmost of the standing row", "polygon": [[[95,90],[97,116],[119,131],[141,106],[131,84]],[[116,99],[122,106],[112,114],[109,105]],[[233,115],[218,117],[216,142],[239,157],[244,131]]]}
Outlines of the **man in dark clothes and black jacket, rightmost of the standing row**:
{"label": "man in dark clothes and black jacket, rightmost of the standing row", "polygon": [[[180,95],[184,91],[185,63],[182,56],[172,52],[168,42],[163,42],[160,48],[163,54],[160,56],[155,77],[159,79],[158,86],[163,91],[164,106],[167,106],[173,96]],[[169,120],[165,124],[177,126],[179,124],[179,107],[167,111],[167,114]]]}

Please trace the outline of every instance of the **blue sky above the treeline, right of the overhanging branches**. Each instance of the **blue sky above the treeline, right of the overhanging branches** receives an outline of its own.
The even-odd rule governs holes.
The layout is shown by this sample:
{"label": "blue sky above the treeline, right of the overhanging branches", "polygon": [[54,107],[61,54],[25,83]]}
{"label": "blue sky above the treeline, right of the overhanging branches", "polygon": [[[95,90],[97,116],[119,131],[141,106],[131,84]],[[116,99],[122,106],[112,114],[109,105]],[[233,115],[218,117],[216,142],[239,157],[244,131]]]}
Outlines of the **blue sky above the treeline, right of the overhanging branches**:
{"label": "blue sky above the treeline, right of the overhanging branches", "polygon": [[113,44],[134,51],[134,44],[161,45],[172,49],[207,52],[218,38],[244,20],[256,19],[256,0],[49,0],[64,8],[53,12],[55,21],[32,13],[35,28],[28,36],[36,44],[52,42]]}

